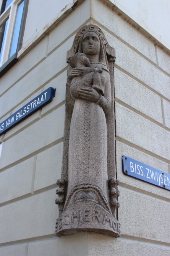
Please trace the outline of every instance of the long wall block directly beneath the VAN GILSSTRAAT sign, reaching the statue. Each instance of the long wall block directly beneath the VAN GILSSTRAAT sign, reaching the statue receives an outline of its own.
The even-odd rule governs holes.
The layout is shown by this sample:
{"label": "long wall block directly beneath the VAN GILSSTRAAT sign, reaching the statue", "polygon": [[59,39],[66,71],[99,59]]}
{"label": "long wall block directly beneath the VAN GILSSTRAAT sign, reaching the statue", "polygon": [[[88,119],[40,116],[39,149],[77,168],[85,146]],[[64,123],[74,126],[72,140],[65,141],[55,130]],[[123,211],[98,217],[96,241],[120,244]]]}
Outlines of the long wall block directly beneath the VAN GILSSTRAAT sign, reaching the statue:
{"label": "long wall block directly beneath the VAN GILSSTRAAT sign, reaching the statue", "polygon": [[64,130],[64,117],[65,105],[6,140],[3,144],[0,168],[61,139]]}

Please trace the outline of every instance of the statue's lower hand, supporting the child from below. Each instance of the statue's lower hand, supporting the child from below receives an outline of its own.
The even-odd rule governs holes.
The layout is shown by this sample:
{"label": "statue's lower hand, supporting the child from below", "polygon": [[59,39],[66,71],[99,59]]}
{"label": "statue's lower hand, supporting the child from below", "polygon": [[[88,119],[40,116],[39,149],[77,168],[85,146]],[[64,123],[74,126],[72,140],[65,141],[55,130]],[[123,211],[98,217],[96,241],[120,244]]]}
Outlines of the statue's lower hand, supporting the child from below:
{"label": "statue's lower hand, supporting the child from below", "polygon": [[86,99],[86,101],[97,102],[100,98],[100,93],[91,87],[81,88],[78,91],[81,99]]}

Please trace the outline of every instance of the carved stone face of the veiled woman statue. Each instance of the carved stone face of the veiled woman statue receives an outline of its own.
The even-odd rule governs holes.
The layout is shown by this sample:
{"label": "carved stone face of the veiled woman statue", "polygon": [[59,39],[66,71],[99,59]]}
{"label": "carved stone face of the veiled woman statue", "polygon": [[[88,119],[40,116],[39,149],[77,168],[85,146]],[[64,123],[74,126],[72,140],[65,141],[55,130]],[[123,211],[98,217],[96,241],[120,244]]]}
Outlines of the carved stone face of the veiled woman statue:
{"label": "carved stone face of the veiled woman statue", "polygon": [[94,32],[87,32],[83,36],[83,53],[86,55],[99,55],[100,41],[99,37]]}

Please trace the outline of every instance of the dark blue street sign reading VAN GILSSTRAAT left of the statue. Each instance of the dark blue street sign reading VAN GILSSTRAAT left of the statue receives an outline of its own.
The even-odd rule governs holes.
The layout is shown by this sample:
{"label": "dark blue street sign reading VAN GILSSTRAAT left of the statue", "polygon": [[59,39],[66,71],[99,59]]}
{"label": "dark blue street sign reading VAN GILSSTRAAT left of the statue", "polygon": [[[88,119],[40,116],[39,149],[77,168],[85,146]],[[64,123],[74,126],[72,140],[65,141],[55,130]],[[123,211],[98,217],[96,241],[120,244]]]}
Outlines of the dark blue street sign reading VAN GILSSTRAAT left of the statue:
{"label": "dark blue street sign reading VAN GILSSTRAAT left of the statue", "polygon": [[21,121],[32,115],[37,110],[44,107],[55,97],[55,89],[49,87],[47,90],[39,94],[32,101],[21,107],[18,111],[0,123],[0,135],[4,134]]}

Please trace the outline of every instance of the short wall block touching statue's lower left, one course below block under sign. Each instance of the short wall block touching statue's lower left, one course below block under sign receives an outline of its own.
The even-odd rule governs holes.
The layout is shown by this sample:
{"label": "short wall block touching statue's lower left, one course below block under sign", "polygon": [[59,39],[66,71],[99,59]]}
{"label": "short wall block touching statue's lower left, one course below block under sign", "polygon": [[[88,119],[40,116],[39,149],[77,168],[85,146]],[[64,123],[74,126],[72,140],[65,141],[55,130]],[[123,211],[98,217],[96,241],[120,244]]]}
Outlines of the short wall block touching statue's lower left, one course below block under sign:
{"label": "short wall block touching statue's lower left, one course below block under sign", "polygon": [[63,142],[37,155],[34,191],[48,187],[61,178]]}

